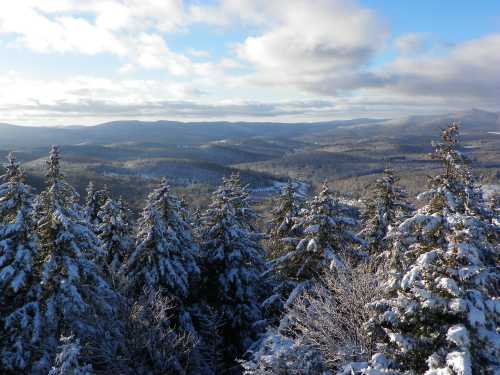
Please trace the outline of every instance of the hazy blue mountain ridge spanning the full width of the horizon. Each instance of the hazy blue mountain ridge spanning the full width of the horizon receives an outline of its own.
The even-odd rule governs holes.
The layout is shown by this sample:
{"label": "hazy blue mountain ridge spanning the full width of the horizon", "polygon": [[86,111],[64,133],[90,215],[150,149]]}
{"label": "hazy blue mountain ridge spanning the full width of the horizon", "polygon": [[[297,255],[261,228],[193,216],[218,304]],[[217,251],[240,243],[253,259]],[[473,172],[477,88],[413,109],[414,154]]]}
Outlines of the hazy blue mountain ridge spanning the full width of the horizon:
{"label": "hazy blue mountain ridge spanning the full width of the horizon", "polygon": [[154,143],[202,145],[250,138],[301,139],[337,136],[435,136],[451,121],[459,121],[463,134],[500,131],[500,112],[478,109],[400,119],[338,120],[314,123],[114,121],[96,126],[25,127],[0,124],[0,149],[59,145],[113,145]]}

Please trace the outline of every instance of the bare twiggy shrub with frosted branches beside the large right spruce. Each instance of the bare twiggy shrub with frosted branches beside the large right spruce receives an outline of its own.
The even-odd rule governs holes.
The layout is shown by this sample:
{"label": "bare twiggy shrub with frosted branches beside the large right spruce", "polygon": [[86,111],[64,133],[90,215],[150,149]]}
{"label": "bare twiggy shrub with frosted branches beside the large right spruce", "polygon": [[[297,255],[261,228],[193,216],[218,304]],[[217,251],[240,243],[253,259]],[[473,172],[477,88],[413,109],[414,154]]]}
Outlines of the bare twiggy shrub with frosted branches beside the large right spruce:
{"label": "bare twiggy shrub with frosted branches beside the large right spruce", "polygon": [[369,264],[327,270],[287,309],[290,336],[309,342],[330,369],[367,361],[374,352],[365,323],[368,304],[380,298],[381,287],[371,270]]}

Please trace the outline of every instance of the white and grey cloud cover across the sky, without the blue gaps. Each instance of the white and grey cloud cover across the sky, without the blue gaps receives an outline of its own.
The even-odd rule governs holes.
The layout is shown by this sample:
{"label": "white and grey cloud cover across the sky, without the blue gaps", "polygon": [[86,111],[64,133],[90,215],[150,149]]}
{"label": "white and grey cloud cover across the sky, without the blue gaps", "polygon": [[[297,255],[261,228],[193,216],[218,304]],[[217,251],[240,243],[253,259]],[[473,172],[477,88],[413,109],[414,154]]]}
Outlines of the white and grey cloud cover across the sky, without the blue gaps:
{"label": "white and grey cloud cover across the sky, without the blue gaps", "polygon": [[[188,46],[180,52],[167,43],[193,23],[247,34],[223,57],[215,49],[213,55]],[[500,34],[446,48],[428,33],[390,38],[380,17],[355,0],[220,0],[209,6],[181,0],[18,0],[2,4],[4,35],[9,37],[3,48],[112,54],[121,73],[117,81],[4,74],[4,119],[15,111],[16,118],[25,113],[61,119],[78,108],[88,116],[105,116],[106,110],[133,116],[132,109],[200,118],[251,117],[251,111],[259,118],[387,116],[498,109],[500,97]],[[398,56],[373,67],[388,46]],[[131,79],[143,69],[157,79]],[[307,103],[304,108],[299,99]],[[314,101],[328,105],[313,108]]]}

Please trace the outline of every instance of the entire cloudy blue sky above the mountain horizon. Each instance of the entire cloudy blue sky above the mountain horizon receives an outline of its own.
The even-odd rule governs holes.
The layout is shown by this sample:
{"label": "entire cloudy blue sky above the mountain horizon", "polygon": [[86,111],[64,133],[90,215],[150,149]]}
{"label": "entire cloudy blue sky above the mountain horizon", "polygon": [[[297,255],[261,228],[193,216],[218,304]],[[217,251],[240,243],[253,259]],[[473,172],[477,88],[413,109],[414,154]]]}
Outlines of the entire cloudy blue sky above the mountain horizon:
{"label": "entire cloudy blue sky above the mountain horizon", "polygon": [[0,122],[500,110],[497,0],[5,0]]}

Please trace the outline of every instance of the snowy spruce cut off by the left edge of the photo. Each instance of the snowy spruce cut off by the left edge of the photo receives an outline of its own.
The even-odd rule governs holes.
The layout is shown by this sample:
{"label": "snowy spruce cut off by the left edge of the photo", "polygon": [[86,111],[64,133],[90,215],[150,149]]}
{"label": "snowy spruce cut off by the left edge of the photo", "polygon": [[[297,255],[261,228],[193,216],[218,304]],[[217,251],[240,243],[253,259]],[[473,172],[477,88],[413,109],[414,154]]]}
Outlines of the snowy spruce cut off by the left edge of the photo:
{"label": "snowy spruce cut off by the left edge of the photo", "polygon": [[14,154],[9,154],[0,185],[0,369],[24,371],[39,340],[40,310],[35,302],[36,239],[32,189]]}

